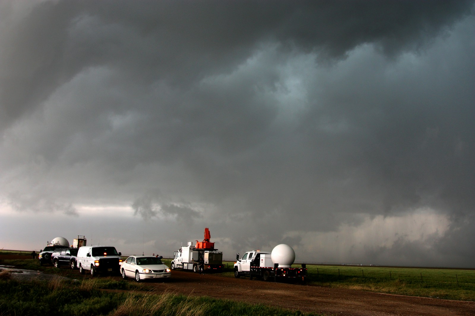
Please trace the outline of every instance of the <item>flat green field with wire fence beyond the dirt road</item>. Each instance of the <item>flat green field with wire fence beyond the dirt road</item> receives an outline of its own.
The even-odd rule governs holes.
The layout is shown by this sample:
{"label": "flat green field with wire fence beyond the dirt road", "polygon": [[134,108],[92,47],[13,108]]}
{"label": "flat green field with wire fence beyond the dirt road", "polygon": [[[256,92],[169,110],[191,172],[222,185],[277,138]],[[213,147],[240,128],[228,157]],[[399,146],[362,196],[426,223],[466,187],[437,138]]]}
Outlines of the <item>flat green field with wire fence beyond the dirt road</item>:
{"label": "flat green field with wire fence beyond the dirt road", "polygon": [[[223,274],[233,277],[231,269]],[[307,264],[307,275],[323,287],[475,301],[475,270]]]}

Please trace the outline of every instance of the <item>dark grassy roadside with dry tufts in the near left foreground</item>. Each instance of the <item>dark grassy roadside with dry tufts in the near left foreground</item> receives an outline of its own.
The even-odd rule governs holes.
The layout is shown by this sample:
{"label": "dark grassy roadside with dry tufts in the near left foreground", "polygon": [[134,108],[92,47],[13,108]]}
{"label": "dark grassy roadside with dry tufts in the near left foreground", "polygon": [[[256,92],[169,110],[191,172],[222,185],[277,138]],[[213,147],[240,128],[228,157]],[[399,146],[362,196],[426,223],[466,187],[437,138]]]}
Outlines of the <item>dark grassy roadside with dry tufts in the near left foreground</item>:
{"label": "dark grassy roadside with dry tufts in the near left foreground", "polygon": [[157,295],[138,292],[130,286],[129,282],[110,279],[77,281],[53,278],[49,282],[19,282],[13,280],[9,272],[2,271],[0,315],[324,316],[209,297],[195,298],[171,293]]}

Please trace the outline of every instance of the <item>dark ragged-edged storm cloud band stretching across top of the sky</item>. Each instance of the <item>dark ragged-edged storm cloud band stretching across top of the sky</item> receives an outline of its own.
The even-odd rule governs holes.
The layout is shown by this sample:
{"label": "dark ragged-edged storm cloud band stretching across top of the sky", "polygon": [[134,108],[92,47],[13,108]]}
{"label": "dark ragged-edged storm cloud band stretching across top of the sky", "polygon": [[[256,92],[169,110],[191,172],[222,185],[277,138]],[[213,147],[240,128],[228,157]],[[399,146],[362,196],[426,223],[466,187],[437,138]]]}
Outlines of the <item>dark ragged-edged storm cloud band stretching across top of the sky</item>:
{"label": "dark ragged-edged storm cloud band stretching across top of the sky", "polygon": [[[144,84],[190,83],[230,71],[261,41],[330,57],[377,43],[395,54],[418,48],[469,14],[473,1],[43,1],[4,2],[2,125],[86,67],[127,71]],[[25,12],[17,11],[24,6]],[[27,93],[25,93],[28,91]]]}

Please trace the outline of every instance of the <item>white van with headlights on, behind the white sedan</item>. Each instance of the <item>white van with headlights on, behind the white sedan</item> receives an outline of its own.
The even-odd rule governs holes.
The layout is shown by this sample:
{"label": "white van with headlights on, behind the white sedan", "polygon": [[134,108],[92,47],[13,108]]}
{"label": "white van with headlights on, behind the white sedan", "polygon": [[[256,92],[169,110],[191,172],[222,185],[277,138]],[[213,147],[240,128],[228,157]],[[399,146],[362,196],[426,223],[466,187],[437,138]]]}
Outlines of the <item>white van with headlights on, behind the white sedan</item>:
{"label": "white van with headlights on, behind the white sedan", "polygon": [[76,267],[81,274],[91,271],[92,276],[103,272],[120,273],[121,255],[113,246],[82,246],[77,252]]}

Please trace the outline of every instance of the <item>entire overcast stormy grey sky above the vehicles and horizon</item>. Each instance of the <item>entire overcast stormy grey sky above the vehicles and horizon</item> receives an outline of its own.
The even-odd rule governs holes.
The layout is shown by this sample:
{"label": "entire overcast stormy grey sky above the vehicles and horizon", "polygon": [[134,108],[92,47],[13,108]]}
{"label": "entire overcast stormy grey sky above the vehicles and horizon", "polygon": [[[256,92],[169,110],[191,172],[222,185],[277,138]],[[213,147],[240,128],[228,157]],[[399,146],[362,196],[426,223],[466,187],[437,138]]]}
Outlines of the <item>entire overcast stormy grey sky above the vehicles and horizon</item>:
{"label": "entire overcast stormy grey sky above the vehicles and horizon", "polygon": [[0,0],[0,249],[474,268],[474,8]]}

